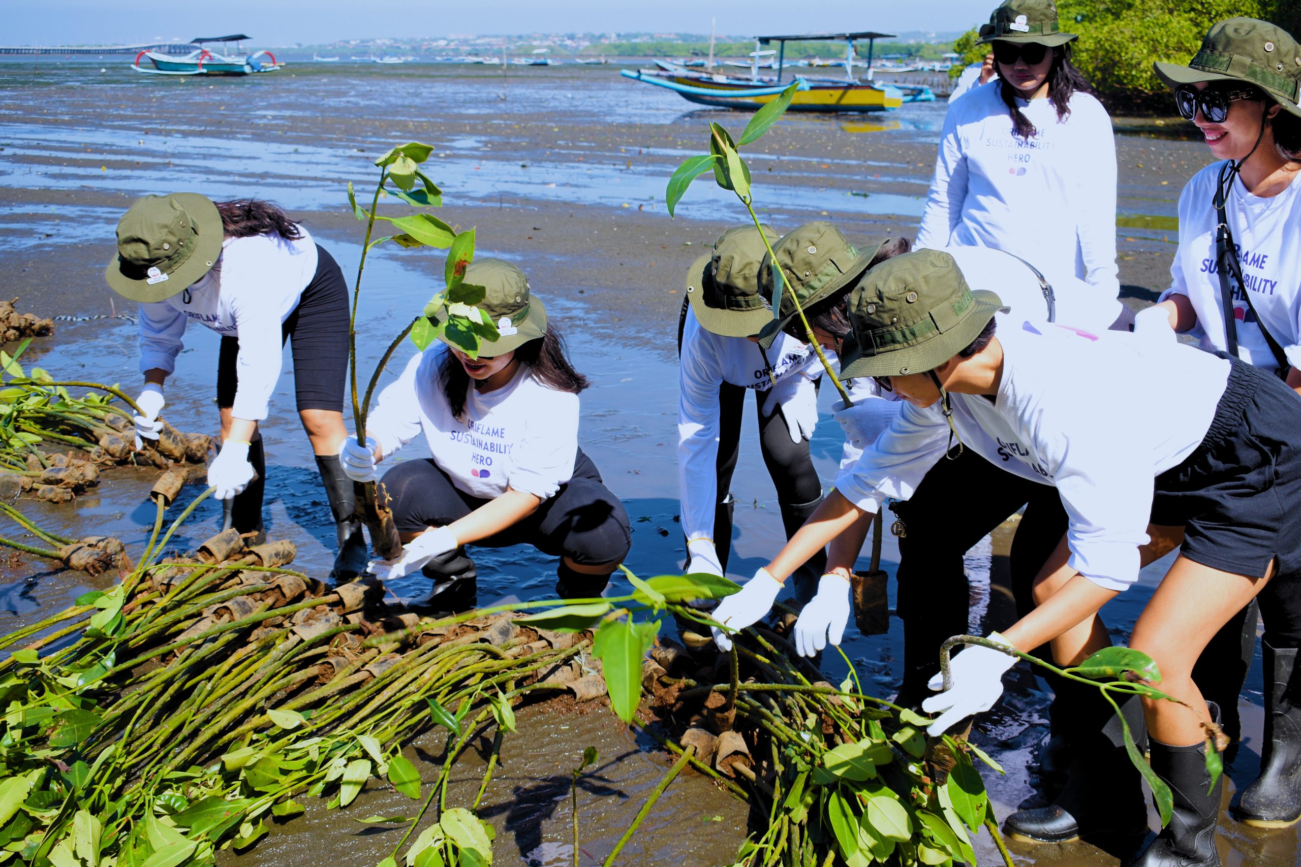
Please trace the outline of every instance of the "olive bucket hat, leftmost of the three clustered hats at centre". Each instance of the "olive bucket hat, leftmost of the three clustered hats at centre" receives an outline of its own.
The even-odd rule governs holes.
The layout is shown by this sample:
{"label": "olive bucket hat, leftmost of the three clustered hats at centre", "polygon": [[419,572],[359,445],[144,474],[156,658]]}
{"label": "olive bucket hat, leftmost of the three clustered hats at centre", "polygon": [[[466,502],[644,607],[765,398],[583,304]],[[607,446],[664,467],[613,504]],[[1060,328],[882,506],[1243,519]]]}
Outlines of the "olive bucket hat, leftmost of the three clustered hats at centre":
{"label": "olive bucket hat, leftmost of the three clustered hats at centre", "polygon": [[769,226],[729,229],[687,272],[687,300],[701,328],[722,337],[752,337],[773,318],[758,294],[758,265],[778,234]]}

